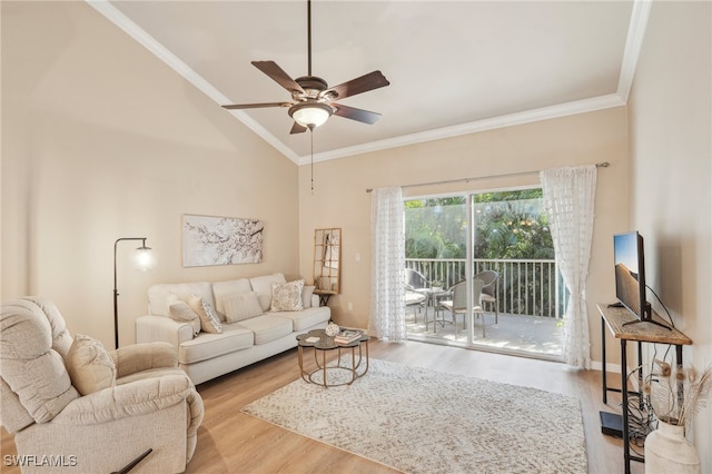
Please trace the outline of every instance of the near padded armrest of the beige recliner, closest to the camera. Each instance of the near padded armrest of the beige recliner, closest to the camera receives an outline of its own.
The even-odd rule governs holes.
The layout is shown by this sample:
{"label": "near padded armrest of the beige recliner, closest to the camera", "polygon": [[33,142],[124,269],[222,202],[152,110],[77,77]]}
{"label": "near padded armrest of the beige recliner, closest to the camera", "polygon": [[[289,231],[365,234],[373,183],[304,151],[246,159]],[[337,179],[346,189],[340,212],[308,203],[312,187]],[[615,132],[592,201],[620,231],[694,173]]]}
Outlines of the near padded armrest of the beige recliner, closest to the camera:
{"label": "near padded armrest of the beige recliner, closest to the camera", "polygon": [[[52,423],[93,425],[157,412],[182,401],[201,405],[199,395],[196,397],[194,393],[192,382],[185,375],[146,378],[76,398],[55,416]],[[201,418],[198,413],[190,417]]]}

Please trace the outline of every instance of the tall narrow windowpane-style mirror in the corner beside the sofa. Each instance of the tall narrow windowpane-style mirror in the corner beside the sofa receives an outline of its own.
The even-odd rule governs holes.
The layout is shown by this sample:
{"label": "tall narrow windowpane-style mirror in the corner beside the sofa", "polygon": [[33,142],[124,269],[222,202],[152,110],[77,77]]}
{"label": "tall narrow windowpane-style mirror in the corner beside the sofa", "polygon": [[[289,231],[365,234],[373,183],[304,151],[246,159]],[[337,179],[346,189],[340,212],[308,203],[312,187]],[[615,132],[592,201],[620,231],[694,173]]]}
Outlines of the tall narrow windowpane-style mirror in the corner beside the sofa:
{"label": "tall narrow windowpane-style mirror in the corner beside the sofa", "polygon": [[342,229],[314,231],[314,293],[337,295],[340,285]]}

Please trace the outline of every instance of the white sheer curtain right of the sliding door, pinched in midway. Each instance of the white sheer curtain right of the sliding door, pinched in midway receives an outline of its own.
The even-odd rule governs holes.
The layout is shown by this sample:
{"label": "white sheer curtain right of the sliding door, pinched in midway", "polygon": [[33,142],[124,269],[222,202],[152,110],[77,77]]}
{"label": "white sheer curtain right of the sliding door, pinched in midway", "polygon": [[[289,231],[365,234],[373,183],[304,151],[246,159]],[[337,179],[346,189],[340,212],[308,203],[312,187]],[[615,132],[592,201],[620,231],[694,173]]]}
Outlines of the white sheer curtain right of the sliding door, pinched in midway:
{"label": "white sheer curtain right of the sliding door, pinched in midway", "polygon": [[564,320],[564,361],[574,367],[591,368],[585,292],[593,237],[596,167],[550,169],[541,171],[540,178],[556,260],[571,293]]}

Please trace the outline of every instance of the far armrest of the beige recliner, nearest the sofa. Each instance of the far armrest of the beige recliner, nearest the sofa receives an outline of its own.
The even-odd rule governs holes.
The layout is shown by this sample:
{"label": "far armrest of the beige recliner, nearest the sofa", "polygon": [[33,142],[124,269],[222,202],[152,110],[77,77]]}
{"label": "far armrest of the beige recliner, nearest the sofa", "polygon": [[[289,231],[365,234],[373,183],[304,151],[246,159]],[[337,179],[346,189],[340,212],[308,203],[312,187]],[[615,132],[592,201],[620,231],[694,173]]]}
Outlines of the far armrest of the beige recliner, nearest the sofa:
{"label": "far armrest of the beige recliner, nearest the sofa", "polygon": [[178,367],[178,352],[169,343],[144,343],[119,347],[109,355],[117,378],[158,367]]}

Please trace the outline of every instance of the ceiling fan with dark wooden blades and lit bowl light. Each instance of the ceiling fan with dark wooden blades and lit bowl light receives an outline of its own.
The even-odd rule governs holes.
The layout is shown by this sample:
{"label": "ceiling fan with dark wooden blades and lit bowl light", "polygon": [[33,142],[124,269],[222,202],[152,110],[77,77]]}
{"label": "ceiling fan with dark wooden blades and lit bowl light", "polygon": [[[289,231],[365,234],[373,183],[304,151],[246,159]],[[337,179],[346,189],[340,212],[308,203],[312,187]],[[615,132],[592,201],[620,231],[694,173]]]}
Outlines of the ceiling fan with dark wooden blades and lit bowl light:
{"label": "ceiling fan with dark wooden blades and lit bowl light", "polygon": [[301,134],[323,125],[332,115],[364,124],[374,124],[380,113],[336,103],[335,100],[388,86],[390,82],[380,71],[373,71],[338,86],[312,76],[312,0],[307,0],[307,76],[291,79],[275,61],[251,61],[253,66],[269,76],[291,95],[290,102],[237,103],[222,106],[226,109],[256,109],[288,107],[294,126],[289,134]]}

